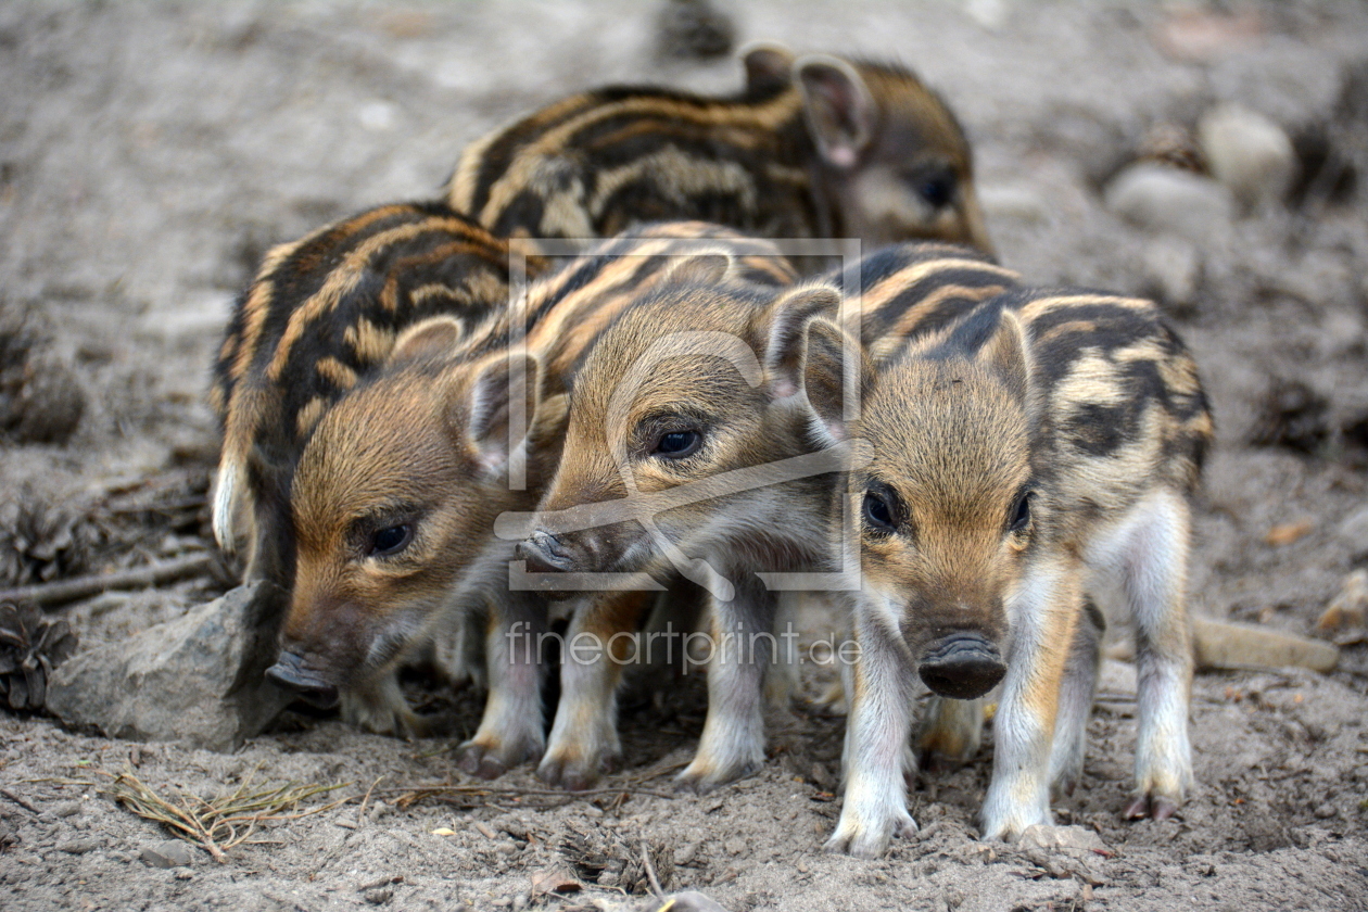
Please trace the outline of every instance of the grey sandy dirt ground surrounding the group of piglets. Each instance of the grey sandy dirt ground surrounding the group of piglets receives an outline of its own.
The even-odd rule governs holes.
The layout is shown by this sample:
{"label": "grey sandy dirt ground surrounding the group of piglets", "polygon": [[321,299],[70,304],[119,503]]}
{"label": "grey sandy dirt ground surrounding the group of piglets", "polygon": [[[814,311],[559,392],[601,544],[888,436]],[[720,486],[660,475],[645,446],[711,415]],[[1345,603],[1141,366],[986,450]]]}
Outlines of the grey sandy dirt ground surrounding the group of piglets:
{"label": "grey sandy dirt ground surrounding the group of piglets", "polygon": [[[1368,562],[1368,194],[1327,179],[1295,204],[1179,241],[1122,222],[1103,190],[1156,126],[1190,127],[1223,101],[1282,124],[1312,163],[1317,138],[1352,142],[1365,129],[1346,111],[1368,105],[1368,82],[1352,79],[1368,60],[1368,7],[728,8],[741,40],[896,56],[940,88],[975,142],[1008,265],[1038,283],[1166,294],[1219,421],[1193,611],[1311,632]],[[654,10],[627,0],[0,5],[0,297],[5,320],[23,314],[44,364],[71,377],[64,395],[85,405],[64,443],[0,444],[0,584],[208,547],[208,365],[267,245],[434,196],[465,142],[573,89],[739,83],[726,59],[662,62]],[[103,505],[98,522],[82,518],[92,503]],[[90,645],[222,591],[204,577],[63,613]],[[416,793],[469,785],[451,760],[477,718],[469,693],[424,696],[450,719],[447,737],[405,742],[291,714],[233,755],[0,715],[0,905],[618,908],[647,900],[644,850],[666,890],[698,889],[736,912],[1361,909],[1368,647],[1352,630],[1342,639],[1331,674],[1198,677],[1198,785],[1163,823],[1119,819],[1134,671],[1109,662],[1083,782],[1056,808],[1108,846],[1082,856],[977,841],[990,738],[969,766],[922,775],[918,838],[877,861],[822,855],[840,808],[843,721],[811,710],[773,738],[758,775],[674,797],[670,774],[702,726],[698,681],[628,701],[627,770],[610,792],[580,797],[538,793],[525,768],[483,794]],[[343,783],[331,796],[352,800],[264,824],[254,834],[264,842],[223,863],[196,849],[189,866],[160,868],[142,856],[166,830],[100,792],[124,768],[168,793],[208,797],[254,777]],[[583,889],[543,893],[569,879]]]}

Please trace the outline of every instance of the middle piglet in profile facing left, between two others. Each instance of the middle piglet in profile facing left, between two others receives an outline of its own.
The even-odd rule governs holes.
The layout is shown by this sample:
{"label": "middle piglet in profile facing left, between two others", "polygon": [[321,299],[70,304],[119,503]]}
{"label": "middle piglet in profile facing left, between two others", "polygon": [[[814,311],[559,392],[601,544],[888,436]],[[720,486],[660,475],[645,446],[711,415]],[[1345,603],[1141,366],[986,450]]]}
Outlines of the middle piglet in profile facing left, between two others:
{"label": "middle piglet in profile facing left, between two others", "polygon": [[[815,314],[834,317],[843,284],[852,294],[863,289],[860,324],[871,340],[891,325],[904,325],[910,332],[944,325],[1015,284],[1015,275],[985,254],[941,243],[889,249],[845,275],[837,272],[789,291],[737,283],[735,278],[733,267],[710,279],[695,275],[691,282],[653,287],[590,340],[570,390],[565,457],[540,505],[543,525],[527,543],[531,554],[550,555],[549,566],[562,562],[560,569],[565,570],[646,572],[669,580],[679,573],[677,555],[665,552],[661,540],[640,522],[561,532],[549,524],[561,510],[584,503],[666,491],[825,447],[825,432],[808,421],[802,407],[793,369],[803,361],[796,351],[803,343],[804,321]],[[911,319],[918,314],[921,319]],[[698,334],[706,339],[696,342]],[[732,342],[743,361],[747,353],[759,358],[758,377],[743,377],[725,356]],[[659,362],[651,360],[657,354]],[[643,360],[650,366],[639,366],[646,364]],[[611,420],[613,403],[624,381],[640,386],[629,399],[625,424],[618,427]],[[807,392],[815,395],[815,390]],[[709,443],[687,459],[654,457],[650,442],[672,428],[699,432]],[[620,451],[628,454],[631,477],[622,473]],[[830,474],[802,479],[681,505],[654,518],[679,554],[707,561],[736,587],[733,598],[714,593],[710,602],[715,630],[770,629],[782,606],[776,593],[755,582],[755,572],[824,565],[829,485]],[[610,626],[590,629],[605,640],[624,632]],[[561,699],[562,706],[577,707],[577,725],[562,726],[558,711],[543,777],[581,785],[599,766],[583,733],[611,726],[610,684],[616,670],[599,663],[595,677],[595,669],[573,669],[573,688],[565,677],[569,670],[562,670]],[[709,674],[710,693],[725,697],[710,706],[703,742],[681,777],[696,789],[743,775],[762,757],[757,669],[728,660],[710,666]],[[599,700],[596,716],[584,693]],[[561,742],[558,733],[564,734]],[[616,744],[616,736],[599,741],[599,747]]]}

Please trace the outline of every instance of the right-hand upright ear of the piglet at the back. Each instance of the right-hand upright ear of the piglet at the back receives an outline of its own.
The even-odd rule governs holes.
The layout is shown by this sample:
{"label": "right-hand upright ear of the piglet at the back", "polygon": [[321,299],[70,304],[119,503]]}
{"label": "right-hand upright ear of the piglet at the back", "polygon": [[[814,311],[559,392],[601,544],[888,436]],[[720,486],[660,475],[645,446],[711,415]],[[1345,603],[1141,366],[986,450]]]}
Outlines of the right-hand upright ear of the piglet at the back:
{"label": "right-hand upright ear of the piglet at the back", "polygon": [[836,168],[854,168],[874,137],[877,112],[869,86],[840,57],[811,55],[799,60],[795,70],[817,150]]}

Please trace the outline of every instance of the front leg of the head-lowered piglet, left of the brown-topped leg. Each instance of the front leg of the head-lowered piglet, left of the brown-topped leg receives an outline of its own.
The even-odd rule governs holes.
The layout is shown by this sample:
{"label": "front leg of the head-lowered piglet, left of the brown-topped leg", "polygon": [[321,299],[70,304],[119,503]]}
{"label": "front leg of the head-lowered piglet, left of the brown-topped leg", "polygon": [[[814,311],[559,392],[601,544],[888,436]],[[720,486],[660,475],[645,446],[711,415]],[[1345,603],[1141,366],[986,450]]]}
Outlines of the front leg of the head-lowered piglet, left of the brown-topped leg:
{"label": "front leg of the head-lowered piglet, left of the brown-topped leg", "polygon": [[492,779],[542,756],[540,639],[546,603],[529,592],[509,592],[490,606],[486,667],[490,693],[475,737],[457,749],[465,773]]}

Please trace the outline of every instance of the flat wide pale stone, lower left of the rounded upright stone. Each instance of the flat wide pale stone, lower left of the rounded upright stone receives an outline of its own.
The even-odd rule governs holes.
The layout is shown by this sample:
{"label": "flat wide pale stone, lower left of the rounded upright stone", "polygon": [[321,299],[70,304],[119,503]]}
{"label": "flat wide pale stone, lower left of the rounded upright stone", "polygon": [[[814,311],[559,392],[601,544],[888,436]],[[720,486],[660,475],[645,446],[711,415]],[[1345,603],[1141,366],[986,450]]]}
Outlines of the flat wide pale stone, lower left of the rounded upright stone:
{"label": "flat wide pale stone, lower left of the rounded upright stone", "polygon": [[1107,208],[1156,232],[1176,234],[1197,245],[1230,232],[1235,201],[1209,178],[1153,161],[1124,168],[1107,186]]}

